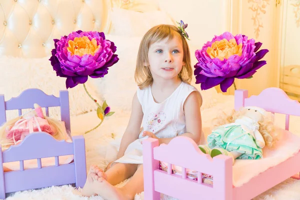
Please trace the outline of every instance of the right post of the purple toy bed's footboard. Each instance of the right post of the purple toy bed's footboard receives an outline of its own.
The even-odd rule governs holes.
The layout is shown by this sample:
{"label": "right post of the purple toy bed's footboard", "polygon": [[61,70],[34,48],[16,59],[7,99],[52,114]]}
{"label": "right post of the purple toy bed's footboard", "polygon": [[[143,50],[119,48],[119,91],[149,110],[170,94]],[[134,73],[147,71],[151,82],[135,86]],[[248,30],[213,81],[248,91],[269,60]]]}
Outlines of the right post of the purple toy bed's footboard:
{"label": "right post of the purple toy bed's footboard", "polygon": [[74,142],[74,164],[76,187],[83,188],[86,180],[86,160],[85,160],[85,144],[82,135],[72,137]]}

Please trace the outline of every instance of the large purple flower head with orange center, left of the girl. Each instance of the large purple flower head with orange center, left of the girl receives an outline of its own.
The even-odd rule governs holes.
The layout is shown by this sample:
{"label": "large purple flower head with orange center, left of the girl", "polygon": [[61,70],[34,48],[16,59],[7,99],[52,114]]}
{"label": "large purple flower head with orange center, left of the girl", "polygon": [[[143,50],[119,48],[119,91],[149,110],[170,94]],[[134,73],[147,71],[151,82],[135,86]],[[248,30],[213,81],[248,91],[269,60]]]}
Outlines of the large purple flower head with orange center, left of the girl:
{"label": "large purple flower head with orange center, left of the girl", "polygon": [[103,32],[71,32],[60,39],[54,39],[50,57],[56,75],[66,77],[66,88],[85,83],[88,76],[103,77],[109,66],[118,61],[116,46],[105,39]]}

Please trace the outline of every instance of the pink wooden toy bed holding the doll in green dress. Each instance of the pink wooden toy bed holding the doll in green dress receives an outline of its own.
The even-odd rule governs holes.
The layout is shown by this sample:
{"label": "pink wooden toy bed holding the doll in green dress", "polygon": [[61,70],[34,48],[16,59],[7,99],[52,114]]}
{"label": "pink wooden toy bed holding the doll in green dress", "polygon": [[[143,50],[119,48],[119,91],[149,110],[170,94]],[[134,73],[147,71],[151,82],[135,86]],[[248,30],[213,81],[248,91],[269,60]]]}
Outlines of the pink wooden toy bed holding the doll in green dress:
{"label": "pink wooden toy bed holding the doll in green dress", "polygon": [[[298,178],[300,138],[288,126],[289,115],[300,116],[300,103],[274,87],[250,97],[239,89],[234,96],[235,109],[253,105],[286,115],[285,129],[276,128],[281,133],[276,148],[265,149],[263,159],[235,160],[232,165],[228,156],[212,159],[202,153],[188,137],[178,136],[160,146],[148,138],[143,142],[145,200],[159,199],[160,193],[179,199],[251,199],[289,177]],[[203,181],[210,177],[209,184]]]}

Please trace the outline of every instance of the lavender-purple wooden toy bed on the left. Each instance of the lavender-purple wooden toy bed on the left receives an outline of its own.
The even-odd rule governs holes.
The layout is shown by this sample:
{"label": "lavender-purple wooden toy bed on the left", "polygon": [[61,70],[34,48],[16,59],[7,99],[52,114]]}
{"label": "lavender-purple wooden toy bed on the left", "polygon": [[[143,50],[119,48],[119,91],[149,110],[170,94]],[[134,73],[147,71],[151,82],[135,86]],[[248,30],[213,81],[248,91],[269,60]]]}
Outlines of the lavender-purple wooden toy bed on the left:
{"label": "lavender-purple wooden toy bed on the left", "polygon": [[[70,131],[68,91],[59,97],[39,89],[26,89],[18,97],[4,101],[0,95],[0,124],[6,121],[5,110],[33,108],[33,103],[45,107],[60,106],[61,121]],[[16,166],[16,163],[18,165]],[[15,168],[17,167],[17,168]],[[86,179],[85,145],[82,135],[71,141],[56,140],[45,132],[30,133],[17,145],[6,150],[0,146],[0,198],[5,193],[27,189],[75,183],[83,187]]]}

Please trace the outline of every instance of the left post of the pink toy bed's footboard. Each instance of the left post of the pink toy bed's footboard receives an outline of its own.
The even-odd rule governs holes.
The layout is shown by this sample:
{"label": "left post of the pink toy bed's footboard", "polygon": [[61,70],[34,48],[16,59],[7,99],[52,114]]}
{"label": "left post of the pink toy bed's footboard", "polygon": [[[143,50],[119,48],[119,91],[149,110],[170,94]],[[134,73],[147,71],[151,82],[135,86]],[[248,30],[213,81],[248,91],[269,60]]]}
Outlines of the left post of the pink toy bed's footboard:
{"label": "left post of the pink toy bed's footboard", "polygon": [[158,146],[157,139],[147,138],[142,142],[145,200],[160,199],[160,193],[154,190],[154,170],[159,169],[159,160],[153,158],[153,148],[155,146]]}

